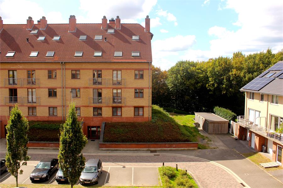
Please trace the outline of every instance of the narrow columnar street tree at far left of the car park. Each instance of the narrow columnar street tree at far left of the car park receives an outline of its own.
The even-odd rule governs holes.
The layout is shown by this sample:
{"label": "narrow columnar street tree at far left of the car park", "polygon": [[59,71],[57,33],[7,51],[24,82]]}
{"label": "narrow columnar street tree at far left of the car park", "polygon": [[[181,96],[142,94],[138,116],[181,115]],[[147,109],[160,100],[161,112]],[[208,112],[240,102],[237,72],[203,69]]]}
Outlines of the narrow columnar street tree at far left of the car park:
{"label": "narrow columnar street tree at far left of the car park", "polygon": [[7,153],[6,166],[8,171],[16,178],[16,187],[18,187],[18,175],[23,174],[20,165],[27,165],[30,156],[27,155],[28,143],[27,132],[29,122],[23,116],[18,106],[15,105],[10,113],[7,128]]}

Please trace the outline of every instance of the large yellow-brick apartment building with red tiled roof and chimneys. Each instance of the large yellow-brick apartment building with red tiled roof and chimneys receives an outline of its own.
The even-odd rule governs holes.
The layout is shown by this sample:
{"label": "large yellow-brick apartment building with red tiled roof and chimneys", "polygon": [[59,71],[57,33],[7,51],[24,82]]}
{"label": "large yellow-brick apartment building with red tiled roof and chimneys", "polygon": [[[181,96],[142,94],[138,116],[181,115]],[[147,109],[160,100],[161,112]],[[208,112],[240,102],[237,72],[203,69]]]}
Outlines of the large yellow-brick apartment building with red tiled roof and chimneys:
{"label": "large yellow-brick apartment building with red tiled roof and chimneys", "polygon": [[14,104],[28,120],[64,121],[71,101],[83,132],[98,139],[103,122],[151,120],[150,18],[121,24],[3,24],[0,17],[0,130]]}

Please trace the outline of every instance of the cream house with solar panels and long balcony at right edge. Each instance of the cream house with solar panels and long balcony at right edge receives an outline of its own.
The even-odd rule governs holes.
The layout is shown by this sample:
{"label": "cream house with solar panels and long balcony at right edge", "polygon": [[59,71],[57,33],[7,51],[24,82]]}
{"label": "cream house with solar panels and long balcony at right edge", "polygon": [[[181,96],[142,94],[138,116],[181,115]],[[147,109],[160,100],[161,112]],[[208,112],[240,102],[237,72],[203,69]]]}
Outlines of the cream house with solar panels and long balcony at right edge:
{"label": "cream house with solar panels and long balcony at right edge", "polygon": [[272,155],[272,160],[282,165],[283,123],[283,61],[264,71],[246,86],[245,114],[231,122],[231,133],[249,141],[255,151]]}

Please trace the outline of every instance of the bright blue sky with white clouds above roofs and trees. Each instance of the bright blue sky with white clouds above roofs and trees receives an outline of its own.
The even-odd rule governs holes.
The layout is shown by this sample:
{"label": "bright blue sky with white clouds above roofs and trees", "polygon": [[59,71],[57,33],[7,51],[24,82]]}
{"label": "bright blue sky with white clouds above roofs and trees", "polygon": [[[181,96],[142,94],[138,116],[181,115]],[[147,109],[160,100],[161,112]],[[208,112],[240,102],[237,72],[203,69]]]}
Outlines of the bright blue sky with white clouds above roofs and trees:
{"label": "bright blue sky with white clouds above roofs and trees", "polygon": [[[17,5],[17,6],[15,6]],[[25,24],[28,16],[48,23],[100,23],[120,16],[122,23],[151,18],[153,65],[166,70],[178,60],[208,60],[283,49],[283,1],[281,0],[0,0],[4,24]]]}

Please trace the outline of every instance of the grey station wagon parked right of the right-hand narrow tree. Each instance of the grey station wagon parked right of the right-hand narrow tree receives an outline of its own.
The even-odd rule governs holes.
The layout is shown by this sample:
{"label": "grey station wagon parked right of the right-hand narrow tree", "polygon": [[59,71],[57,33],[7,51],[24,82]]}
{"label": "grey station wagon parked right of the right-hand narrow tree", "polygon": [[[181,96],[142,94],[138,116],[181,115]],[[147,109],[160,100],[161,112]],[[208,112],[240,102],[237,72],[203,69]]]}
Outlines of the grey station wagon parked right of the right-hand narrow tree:
{"label": "grey station wagon parked right of the right-hand narrow tree", "polygon": [[102,173],[102,162],[100,159],[89,159],[80,175],[81,185],[90,185],[98,183]]}

